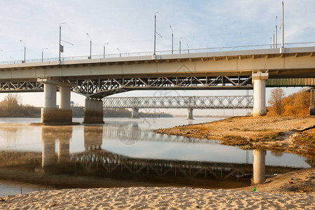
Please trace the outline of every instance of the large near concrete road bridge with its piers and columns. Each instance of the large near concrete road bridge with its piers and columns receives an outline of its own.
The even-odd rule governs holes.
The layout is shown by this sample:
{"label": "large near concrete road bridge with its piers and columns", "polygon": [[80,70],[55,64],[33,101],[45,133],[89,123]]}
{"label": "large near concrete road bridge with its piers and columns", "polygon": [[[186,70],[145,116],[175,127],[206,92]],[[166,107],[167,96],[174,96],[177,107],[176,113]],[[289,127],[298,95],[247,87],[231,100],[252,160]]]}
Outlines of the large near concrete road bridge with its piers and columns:
{"label": "large near concrete road bridge with its piers and columns", "polygon": [[103,123],[101,99],[130,90],[253,89],[253,115],[262,116],[266,84],[315,86],[314,52],[315,47],[272,48],[0,64],[0,90],[44,91],[42,123],[72,122],[71,91],[87,97],[83,123]]}

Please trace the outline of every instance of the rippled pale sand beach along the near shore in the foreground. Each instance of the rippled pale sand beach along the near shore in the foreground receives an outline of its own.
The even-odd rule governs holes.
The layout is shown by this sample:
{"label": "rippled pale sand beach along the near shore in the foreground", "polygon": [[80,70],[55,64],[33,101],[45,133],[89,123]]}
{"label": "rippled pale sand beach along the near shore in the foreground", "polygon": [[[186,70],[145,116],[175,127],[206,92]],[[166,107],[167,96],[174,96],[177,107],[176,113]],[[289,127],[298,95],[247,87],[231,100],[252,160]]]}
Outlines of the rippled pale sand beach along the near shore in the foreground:
{"label": "rippled pale sand beach along the near shore in the foreground", "polygon": [[47,190],[2,197],[0,209],[314,209],[315,193],[199,188]]}

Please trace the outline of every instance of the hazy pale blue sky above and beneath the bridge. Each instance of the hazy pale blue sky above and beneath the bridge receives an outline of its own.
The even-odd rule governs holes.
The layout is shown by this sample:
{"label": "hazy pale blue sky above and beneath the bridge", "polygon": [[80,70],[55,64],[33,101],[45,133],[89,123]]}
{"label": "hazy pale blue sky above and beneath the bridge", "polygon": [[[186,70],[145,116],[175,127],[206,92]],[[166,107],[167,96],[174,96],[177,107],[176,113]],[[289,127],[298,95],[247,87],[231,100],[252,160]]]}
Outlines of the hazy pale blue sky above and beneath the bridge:
{"label": "hazy pale blue sky above and beneath the bridge", "polygon": [[[315,1],[284,1],[285,43],[315,41]],[[276,16],[281,23],[281,0],[222,1],[101,1],[101,0],[0,0],[0,62],[57,57],[59,24],[62,25],[64,57],[121,52],[153,51],[154,14],[157,14],[157,50],[171,50],[174,30],[174,50],[211,48],[236,45],[269,44]],[[281,41],[280,29],[278,42]],[[313,44],[314,45],[314,44]],[[297,89],[295,89],[297,90]],[[286,91],[292,92],[292,90]],[[146,95],[148,92],[128,92],[122,96]],[[149,94],[152,95],[152,92]],[[178,93],[176,93],[178,94]],[[188,95],[191,92],[181,92]],[[200,95],[226,94],[200,91]],[[246,94],[246,91],[239,92]],[[20,94],[24,104],[43,105],[43,94]],[[2,99],[5,94],[0,94]],[[36,97],[35,97],[36,96]],[[81,105],[84,97],[71,94]],[[268,94],[267,94],[268,97]]]}

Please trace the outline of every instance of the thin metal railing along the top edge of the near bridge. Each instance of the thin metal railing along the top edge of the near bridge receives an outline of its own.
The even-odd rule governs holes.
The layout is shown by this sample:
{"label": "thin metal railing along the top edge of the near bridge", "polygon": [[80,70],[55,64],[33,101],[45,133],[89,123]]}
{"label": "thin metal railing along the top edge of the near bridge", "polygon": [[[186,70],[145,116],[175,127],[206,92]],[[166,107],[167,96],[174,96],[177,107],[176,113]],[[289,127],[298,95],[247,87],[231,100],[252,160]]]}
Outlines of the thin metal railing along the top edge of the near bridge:
{"label": "thin metal railing along the top edge of the near bridge", "polygon": [[[300,43],[285,43],[285,48],[290,47],[305,47],[305,46],[314,46],[315,42],[300,42]],[[280,44],[278,44],[280,47]],[[191,49],[183,49],[183,50],[173,50],[174,54],[186,54],[186,53],[197,53],[197,52],[223,52],[223,51],[233,51],[233,50],[258,50],[258,49],[268,49],[272,48],[270,44],[264,45],[241,45],[241,46],[227,46],[227,47],[215,47],[215,48],[191,48]],[[156,51],[156,55],[171,55],[172,50],[161,50]],[[134,56],[144,56],[144,55],[153,55],[153,51],[147,52],[123,52],[123,53],[114,53],[114,54],[106,54],[104,55],[92,55],[92,59],[102,59],[102,58],[113,58],[113,57],[134,57]],[[62,61],[64,60],[77,60],[77,59],[89,59],[90,55],[83,56],[73,56],[73,57],[61,57]],[[52,62],[57,61],[59,57],[50,57],[44,59],[27,59],[26,63],[34,63],[34,62]],[[12,61],[3,61],[1,64],[22,64],[24,60],[12,60]]]}

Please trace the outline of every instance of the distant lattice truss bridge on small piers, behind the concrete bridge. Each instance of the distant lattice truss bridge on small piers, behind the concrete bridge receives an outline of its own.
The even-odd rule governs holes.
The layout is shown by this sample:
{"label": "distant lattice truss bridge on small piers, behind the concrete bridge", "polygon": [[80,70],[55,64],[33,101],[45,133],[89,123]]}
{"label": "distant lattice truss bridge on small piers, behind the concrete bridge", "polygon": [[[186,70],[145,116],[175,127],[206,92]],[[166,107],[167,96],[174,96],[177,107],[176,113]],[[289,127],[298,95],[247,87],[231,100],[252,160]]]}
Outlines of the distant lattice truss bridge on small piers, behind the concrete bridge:
{"label": "distant lattice truss bridge on small piers, behind the concrete bridge", "polygon": [[193,119],[193,109],[251,109],[253,96],[211,97],[105,97],[106,109],[132,109],[132,118],[139,118],[139,109],[188,109],[188,119]]}

